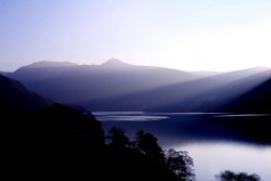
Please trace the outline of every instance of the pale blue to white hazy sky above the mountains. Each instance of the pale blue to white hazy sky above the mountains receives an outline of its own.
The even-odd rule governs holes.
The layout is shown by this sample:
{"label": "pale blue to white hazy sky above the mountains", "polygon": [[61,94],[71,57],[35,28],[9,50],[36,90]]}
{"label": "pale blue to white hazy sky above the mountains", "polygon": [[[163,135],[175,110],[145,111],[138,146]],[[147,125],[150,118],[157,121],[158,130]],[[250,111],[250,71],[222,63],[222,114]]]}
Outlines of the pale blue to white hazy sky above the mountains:
{"label": "pale blue to white hazy sky above the mountains", "polygon": [[271,1],[0,0],[0,70],[109,57],[189,70],[271,66]]}

